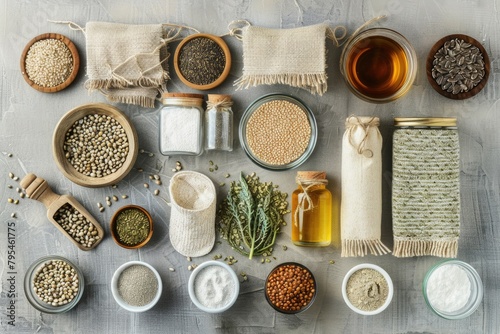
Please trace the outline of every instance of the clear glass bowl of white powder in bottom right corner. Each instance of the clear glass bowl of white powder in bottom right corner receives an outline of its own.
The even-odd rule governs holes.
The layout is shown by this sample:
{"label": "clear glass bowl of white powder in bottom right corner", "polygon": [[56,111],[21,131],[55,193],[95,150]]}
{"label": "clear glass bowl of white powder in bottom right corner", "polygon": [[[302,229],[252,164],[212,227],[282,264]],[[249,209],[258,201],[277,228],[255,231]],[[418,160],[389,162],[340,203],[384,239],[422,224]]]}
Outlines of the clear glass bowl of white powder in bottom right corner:
{"label": "clear glass bowl of white powder in bottom right corner", "polygon": [[424,299],[429,308],[445,319],[470,316],[483,300],[483,283],[477,271],[460,260],[445,260],[425,275]]}

